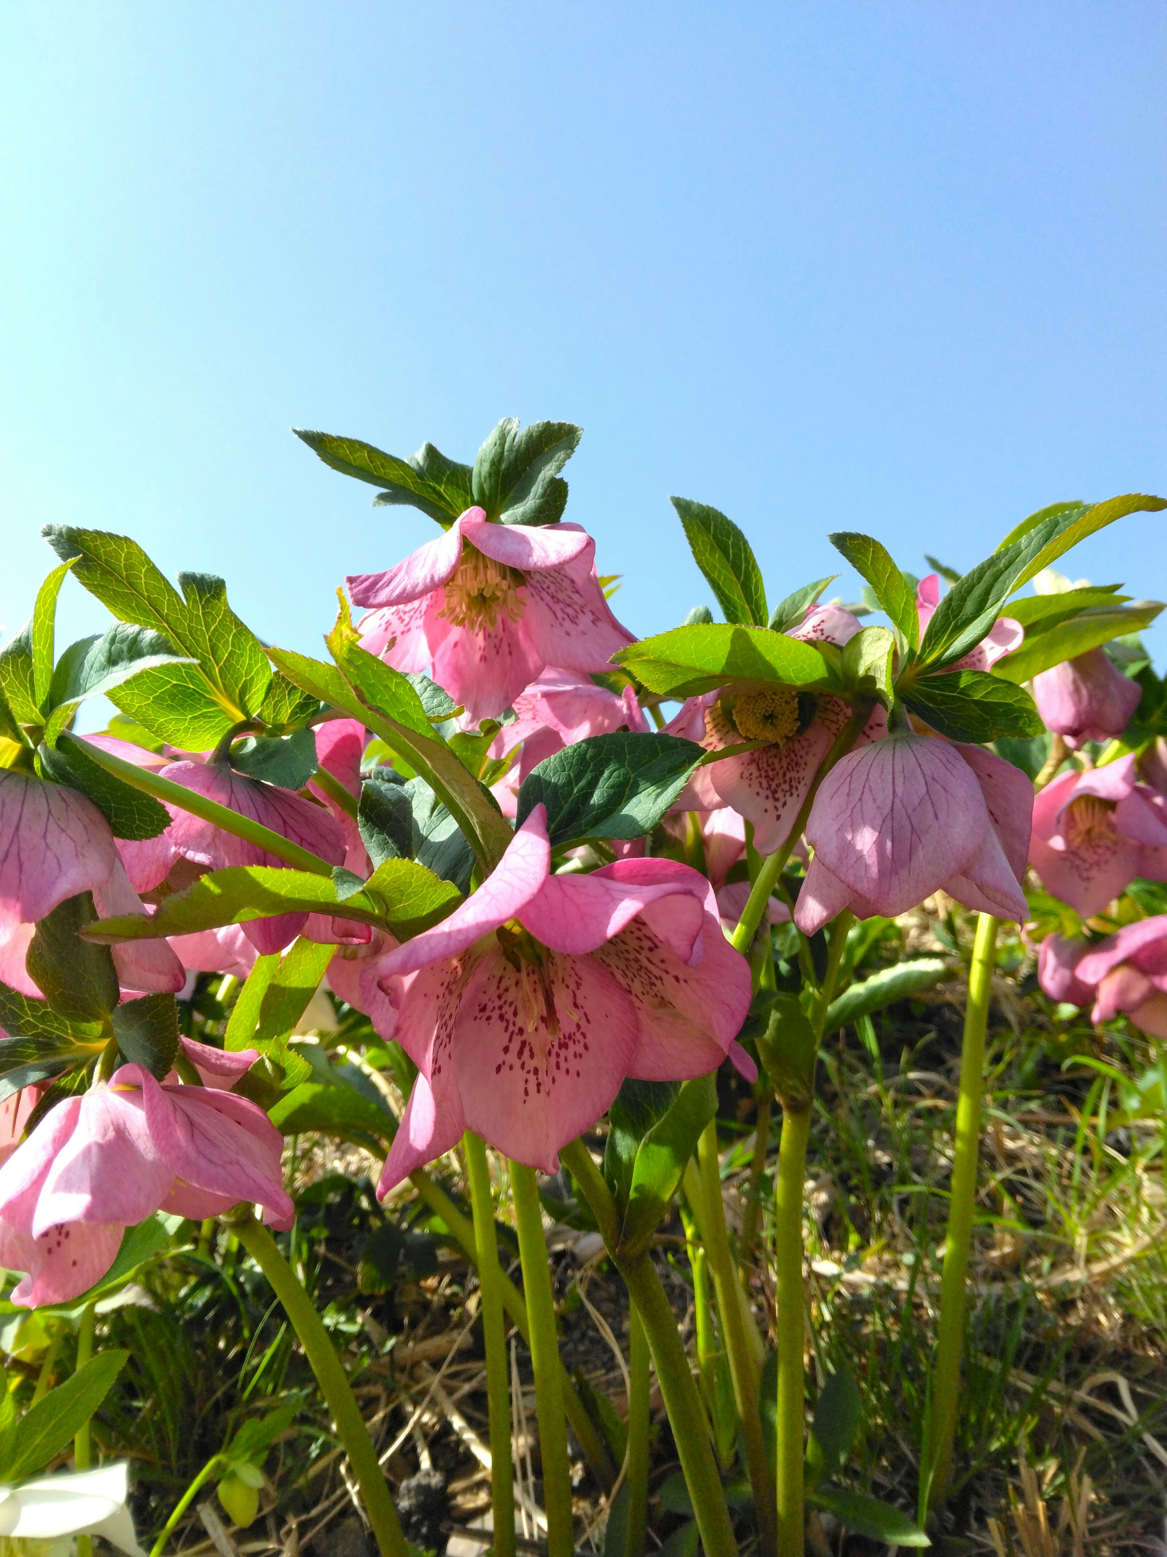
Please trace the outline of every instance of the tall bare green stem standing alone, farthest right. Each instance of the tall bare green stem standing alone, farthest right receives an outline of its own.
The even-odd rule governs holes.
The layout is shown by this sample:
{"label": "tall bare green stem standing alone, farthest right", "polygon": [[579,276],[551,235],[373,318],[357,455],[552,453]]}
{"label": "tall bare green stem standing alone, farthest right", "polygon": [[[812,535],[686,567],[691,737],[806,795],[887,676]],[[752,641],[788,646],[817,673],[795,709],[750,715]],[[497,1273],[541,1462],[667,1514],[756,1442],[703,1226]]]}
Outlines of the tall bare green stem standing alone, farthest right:
{"label": "tall bare green stem standing alone, farthest right", "polygon": [[972,962],[968,970],[952,1188],[944,1230],[944,1264],[940,1277],[940,1331],[920,1465],[921,1503],[926,1507],[943,1503],[952,1481],[952,1440],[960,1398],[960,1351],[965,1333],[965,1280],[977,1199],[985,1029],[988,1026],[996,950],[997,920],[991,914],[980,914],[972,944]]}

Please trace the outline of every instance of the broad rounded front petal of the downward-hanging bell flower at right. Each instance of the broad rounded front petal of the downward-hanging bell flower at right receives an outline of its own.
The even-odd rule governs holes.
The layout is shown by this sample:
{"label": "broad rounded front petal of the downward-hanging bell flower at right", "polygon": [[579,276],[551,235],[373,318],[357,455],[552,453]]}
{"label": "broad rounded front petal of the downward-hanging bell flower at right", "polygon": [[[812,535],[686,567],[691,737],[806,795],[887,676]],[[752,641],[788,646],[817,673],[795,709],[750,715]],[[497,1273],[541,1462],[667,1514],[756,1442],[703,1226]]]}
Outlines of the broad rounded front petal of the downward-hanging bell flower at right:
{"label": "broad rounded front petal of the downward-hanging bell flower at right", "polygon": [[[971,768],[948,741],[898,735],[848,752],[815,796],[815,859],[879,914],[902,914],[972,859],[990,821]],[[795,923],[801,919],[795,912]]]}

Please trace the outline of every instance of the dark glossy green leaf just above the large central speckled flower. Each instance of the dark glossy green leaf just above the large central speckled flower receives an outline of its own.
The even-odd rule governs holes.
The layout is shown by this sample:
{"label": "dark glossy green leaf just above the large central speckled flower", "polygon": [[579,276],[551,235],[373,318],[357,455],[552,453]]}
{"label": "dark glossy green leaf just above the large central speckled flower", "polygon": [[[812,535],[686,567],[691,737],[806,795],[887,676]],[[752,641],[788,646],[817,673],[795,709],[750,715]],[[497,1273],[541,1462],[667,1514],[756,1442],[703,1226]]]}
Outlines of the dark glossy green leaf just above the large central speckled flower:
{"label": "dark glossy green leaf just above the large central speckled flower", "polygon": [[518,791],[517,827],[548,808],[552,845],[582,838],[643,838],[682,793],[705,752],[675,735],[591,735],[545,758]]}

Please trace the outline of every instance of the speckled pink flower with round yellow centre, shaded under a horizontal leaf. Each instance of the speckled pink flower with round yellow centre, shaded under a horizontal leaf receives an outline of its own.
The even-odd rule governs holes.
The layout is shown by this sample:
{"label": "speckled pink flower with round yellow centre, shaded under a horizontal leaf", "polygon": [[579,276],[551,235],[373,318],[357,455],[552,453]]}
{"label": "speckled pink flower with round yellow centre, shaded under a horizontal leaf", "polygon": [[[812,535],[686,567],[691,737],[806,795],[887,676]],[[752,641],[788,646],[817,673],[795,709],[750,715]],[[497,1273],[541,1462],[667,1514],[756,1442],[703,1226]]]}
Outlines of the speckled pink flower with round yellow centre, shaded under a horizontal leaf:
{"label": "speckled pink flower with round yellow centre, shaded under a horizontal leaf", "polygon": [[[812,606],[787,634],[842,648],[859,621],[842,606]],[[730,805],[753,824],[753,842],[769,855],[781,847],[809,794],[818,764],[851,718],[850,704],[831,693],[752,684],[722,687],[691,698],[666,726],[669,735],[699,741],[706,750],[767,741],[752,752],[699,768],[675,810]]]}

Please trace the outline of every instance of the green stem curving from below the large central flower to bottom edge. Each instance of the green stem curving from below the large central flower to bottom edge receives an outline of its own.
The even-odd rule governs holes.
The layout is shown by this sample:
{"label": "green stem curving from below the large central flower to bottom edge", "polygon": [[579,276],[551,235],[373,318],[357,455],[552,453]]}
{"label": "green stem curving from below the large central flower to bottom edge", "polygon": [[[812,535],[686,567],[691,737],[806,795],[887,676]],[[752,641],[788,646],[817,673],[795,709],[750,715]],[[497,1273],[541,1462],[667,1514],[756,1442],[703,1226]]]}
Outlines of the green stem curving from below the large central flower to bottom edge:
{"label": "green stem curving from below the large central flower to bottom edge", "polygon": [[559,1157],[571,1169],[580,1194],[591,1207],[591,1214],[599,1224],[608,1253],[624,1277],[629,1295],[644,1325],[685,1482],[692,1498],[705,1557],[736,1557],[738,1541],[733,1535],[725,1492],[717,1474],[717,1460],[713,1456],[700,1394],[677,1330],[677,1317],[669,1308],[660,1277],[647,1253],[633,1255],[630,1260],[616,1255],[619,1214],[587,1146],[582,1141],[571,1141],[569,1146],[560,1149]]}

